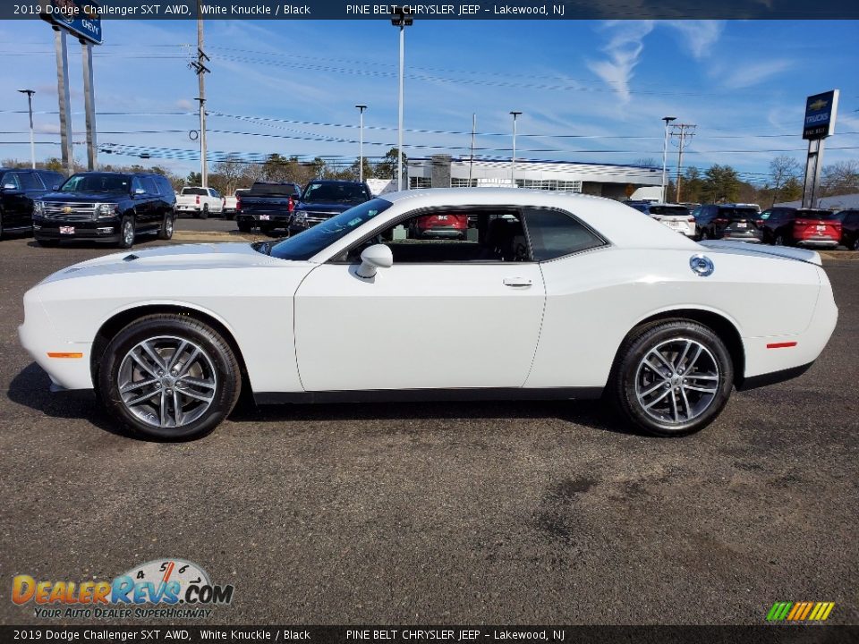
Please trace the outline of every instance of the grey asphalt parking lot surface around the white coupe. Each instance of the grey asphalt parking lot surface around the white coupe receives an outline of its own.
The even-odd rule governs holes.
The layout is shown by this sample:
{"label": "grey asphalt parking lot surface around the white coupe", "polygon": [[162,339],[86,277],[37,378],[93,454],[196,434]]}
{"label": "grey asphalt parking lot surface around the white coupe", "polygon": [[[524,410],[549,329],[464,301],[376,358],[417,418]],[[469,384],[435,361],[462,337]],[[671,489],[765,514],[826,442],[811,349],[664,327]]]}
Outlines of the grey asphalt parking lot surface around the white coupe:
{"label": "grey asphalt parking lot surface around the white coupe", "polygon": [[409,403],[242,409],[157,444],[50,394],[18,343],[32,284],[114,251],[0,242],[0,623],[45,623],[13,575],[170,556],[234,585],[211,623],[760,624],[775,601],[859,623],[859,261],[825,265],[840,320],[814,367],[696,436],[596,403]]}

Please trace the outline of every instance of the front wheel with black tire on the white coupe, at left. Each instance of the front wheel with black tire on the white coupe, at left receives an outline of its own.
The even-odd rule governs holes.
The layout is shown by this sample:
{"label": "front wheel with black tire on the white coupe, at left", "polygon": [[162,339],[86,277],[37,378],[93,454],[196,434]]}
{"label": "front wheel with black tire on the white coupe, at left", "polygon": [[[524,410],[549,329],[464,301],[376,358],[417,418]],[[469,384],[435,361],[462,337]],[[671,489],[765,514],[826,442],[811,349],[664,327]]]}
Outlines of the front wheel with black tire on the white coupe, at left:
{"label": "front wheel with black tire on the white coupe, at left", "polygon": [[[189,343],[189,346],[171,371],[169,361],[183,342]],[[148,357],[151,354],[140,349],[142,343],[149,343],[154,348],[157,357],[163,360],[160,367],[165,369],[155,366],[155,361]],[[162,348],[159,348],[159,343],[163,345]],[[195,348],[199,348],[200,352],[192,355]],[[132,350],[135,355],[146,360],[148,367],[155,371],[154,374],[140,368],[140,363],[129,357]],[[187,365],[183,359],[188,360]],[[188,369],[186,374],[173,378],[174,374],[182,373],[185,369]],[[129,390],[134,383],[157,379],[159,371],[166,372],[161,383]],[[233,411],[242,388],[241,369],[229,343],[199,320],[169,314],[145,316],[125,326],[106,344],[98,360],[98,372],[94,376],[99,400],[123,427],[139,436],[166,441],[190,440],[208,434]],[[212,384],[208,388],[199,386],[193,391],[192,387],[196,384],[186,382],[180,385],[185,377],[193,378],[195,383],[207,381]],[[126,390],[125,401],[119,385],[121,381],[127,383],[123,386]],[[152,395],[149,398],[134,405],[129,404],[137,400],[129,396],[138,393],[146,396],[150,392]],[[184,392],[205,392],[210,400],[201,401]],[[166,403],[163,402],[165,398]],[[176,411],[177,401],[179,412]],[[183,423],[183,417],[190,417],[191,420]]]}

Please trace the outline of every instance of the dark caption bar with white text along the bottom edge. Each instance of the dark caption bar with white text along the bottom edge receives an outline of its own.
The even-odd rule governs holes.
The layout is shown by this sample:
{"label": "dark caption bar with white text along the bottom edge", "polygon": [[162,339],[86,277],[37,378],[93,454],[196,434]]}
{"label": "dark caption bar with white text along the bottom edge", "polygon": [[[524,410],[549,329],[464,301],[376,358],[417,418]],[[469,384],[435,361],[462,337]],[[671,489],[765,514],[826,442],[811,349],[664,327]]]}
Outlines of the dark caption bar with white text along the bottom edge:
{"label": "dark caption bar with white text along the bottom edge", "polygon": [[851,644],[859,626],[0,626],[3,642],[317,644]]}

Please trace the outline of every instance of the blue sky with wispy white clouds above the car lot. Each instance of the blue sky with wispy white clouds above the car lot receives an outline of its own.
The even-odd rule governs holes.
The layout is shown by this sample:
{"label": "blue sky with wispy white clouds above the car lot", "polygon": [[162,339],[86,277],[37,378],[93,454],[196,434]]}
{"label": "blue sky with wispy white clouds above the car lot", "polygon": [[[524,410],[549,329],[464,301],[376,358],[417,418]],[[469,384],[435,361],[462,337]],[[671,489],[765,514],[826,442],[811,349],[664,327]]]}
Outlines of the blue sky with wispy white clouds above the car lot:
{"label": "blue sky with wispy white clouds above the car lot", "polygon": [[[193,153],[188,130],[196,116],[164,113],[196,109],[197,82],[187,66],[196,22],[106,21],[104,30],[94,64],[97,109],[124,114],[98,117],[99,143]],[[406,30],[405,127],[423,131],[406,131],[405,151],[467,155],[476,113],[480,154],[509,157],[509,112],[519,110],[517,157],[660,163],[660,119],[673,115],[698,125],[684,165],[729,164],[764,181],[772,157],[804,160],[804,98],[838,88],[837,134],[827,141],[825,163],[856,159],[856,42],[855,21],[416,20]],[[69,47],[74,139],[81,141],[80,46],[70,39]],[[365,155],[395,144],[398,40],[388,21],[207,21],[206,49],[213,152],[356,157],[356,103],[369,106]],[[0,21],[0,62],[0,130],[11,132],[0,134],[0,159],[27,158],[29,143],[6,141],[28,141],[26,114],[14,113],[26,109],[26,98],[16,89],[37,90],[37,113],[57,109],[48,25]],[[57,116],[36,114],[36,126],[37,140],[55,142],[39,145],[37,156],[58,156]],[[75,152],[85,158],[82,146]],[[669,155],[676,164],[676,148]],[[156,155],[144,163],[180,174],[199,167]]]}

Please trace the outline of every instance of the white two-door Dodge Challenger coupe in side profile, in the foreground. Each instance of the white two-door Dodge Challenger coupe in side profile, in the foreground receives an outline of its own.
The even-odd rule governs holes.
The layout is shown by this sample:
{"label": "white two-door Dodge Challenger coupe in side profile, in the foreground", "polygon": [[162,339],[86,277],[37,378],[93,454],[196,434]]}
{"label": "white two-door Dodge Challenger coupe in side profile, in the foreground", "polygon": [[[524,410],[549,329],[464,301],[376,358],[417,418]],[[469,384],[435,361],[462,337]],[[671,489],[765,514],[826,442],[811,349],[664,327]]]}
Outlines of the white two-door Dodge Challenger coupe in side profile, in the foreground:
{"label": "white two-door Dodge Challenger coupe in side profile, in the foreground", "polygon": [[[466,239],[410,239],[413,220]],[[461,237],[462,235],[456,235]],[[838,319],[813,251],[695,243],[608,199],[408,191],[276,242],[124,251],[24,296],[55,387],[127,428],[201,436],[257,402],[605,396],[659,436],[798,376]]]}

